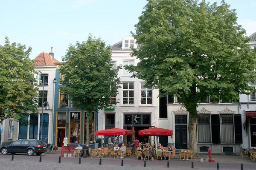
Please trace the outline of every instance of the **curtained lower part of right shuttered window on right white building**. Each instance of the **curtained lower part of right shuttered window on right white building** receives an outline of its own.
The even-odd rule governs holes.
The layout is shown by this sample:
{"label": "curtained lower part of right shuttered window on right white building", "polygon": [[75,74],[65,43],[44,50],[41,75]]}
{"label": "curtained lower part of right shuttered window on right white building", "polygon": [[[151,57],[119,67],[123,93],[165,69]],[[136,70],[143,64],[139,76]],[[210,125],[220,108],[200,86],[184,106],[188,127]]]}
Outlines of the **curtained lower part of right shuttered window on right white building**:
{"label": "curtained lower part of right shuttered window on right white building", "polygon": [[233,124],[221,124],[221,143],[234,143]]}

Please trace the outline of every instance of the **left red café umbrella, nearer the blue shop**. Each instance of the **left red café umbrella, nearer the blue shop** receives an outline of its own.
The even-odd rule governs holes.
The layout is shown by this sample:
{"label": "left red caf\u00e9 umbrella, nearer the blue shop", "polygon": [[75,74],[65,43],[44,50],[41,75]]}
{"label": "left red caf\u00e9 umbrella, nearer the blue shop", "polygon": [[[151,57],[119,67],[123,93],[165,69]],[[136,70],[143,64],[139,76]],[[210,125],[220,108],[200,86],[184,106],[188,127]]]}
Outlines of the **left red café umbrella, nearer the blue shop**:
{"label": "left red caf\u00e9 umbrella, nearer the blue shop", "polygon": [[113,136],[113,135],[135,135],[135,131],[126,130],[126,129],[119,129],[119,128],[112,128],[106,130],[99,130],[95,132],[95,136]]}

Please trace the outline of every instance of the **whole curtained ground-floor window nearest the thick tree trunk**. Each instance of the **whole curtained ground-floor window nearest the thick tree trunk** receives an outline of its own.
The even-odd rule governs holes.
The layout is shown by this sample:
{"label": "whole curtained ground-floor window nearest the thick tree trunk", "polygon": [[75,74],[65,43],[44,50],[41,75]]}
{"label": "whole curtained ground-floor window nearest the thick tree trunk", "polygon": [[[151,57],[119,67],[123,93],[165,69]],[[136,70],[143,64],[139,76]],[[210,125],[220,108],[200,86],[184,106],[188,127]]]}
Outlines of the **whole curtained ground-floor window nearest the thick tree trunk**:
{"label": "whole curtained ground-floor window nearest the thick tree trunk", "polygon": [[210,115],[198,115],[198,143],[211,142]]}

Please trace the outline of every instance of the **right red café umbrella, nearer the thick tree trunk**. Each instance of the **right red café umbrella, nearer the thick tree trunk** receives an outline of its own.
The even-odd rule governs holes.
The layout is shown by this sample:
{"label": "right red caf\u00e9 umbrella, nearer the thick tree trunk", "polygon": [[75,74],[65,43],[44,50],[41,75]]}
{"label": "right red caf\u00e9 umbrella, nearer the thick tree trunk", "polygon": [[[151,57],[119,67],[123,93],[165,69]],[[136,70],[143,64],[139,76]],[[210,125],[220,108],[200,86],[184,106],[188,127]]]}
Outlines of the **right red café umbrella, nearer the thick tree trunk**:
{"label": "right red caf\u00e9 umbrella, nearer the thick tree trunk", "polygon": [[170,129],[154,127],[150,129],[139,130],[140,136],[172,136],[173,132]]}

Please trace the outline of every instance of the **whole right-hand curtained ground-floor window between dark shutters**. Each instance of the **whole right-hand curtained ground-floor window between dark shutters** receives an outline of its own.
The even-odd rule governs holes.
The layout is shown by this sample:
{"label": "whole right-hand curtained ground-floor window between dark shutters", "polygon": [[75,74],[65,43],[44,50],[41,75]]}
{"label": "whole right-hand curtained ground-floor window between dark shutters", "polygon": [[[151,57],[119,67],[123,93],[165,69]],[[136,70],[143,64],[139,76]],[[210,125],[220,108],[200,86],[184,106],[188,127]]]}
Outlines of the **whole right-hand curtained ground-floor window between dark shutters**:
{"label": "whole right-hand curtained ground-floor window between dark shutters", "polygon": [[221,115],[221,143],[234,143],[233,115]]}

